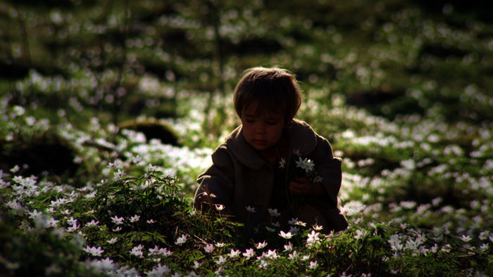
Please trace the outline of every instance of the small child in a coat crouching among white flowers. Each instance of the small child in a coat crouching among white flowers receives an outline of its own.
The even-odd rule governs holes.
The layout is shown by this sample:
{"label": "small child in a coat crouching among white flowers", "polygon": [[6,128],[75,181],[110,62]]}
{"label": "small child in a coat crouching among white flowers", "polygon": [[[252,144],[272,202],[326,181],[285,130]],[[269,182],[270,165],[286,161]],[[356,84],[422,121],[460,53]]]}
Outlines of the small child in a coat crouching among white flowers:
{"label": "small child in a coat crouching among white flowers", "polygon": [[[297,217],[327,233],[347,228],[337,208],[341,160],[326,139],[294,119],[301,105],[294,76],[280,68],[246,70],[234,102],[242,125],[216,148],[213,165],[198,177],[194,207],[223,205],[222,214],[246,224],[270,221],[269,211],[277,209],[282,224]],[[316,181],[289,174],[289,162],[301,159],[298,155],[313,161]],[[294,198],[303,201],[294,205]]]}

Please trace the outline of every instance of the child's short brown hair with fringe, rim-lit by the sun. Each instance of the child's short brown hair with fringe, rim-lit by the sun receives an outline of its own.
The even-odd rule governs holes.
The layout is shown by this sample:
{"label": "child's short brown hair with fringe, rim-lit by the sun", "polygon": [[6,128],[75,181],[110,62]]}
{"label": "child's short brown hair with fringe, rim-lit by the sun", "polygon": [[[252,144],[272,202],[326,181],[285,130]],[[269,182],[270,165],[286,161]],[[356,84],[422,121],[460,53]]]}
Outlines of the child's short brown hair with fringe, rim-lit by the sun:
{"label": "child's short brown hair with fringe, rim-lit by the sun", "polygon": [[234,95],[239,117],[251,104],[258,103],[256,112],[274,111],[290,122],[301,105],[301,93],[296,78],[278,67],[253,67],[243,72]]}

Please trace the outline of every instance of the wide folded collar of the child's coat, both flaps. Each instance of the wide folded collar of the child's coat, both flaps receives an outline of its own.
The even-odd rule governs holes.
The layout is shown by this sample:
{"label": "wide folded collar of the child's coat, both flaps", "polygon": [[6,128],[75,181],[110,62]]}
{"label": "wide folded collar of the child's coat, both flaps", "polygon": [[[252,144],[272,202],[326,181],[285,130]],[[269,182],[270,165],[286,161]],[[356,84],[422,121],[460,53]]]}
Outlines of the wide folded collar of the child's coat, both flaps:
{"label": "wide folded collar of the child's coat, both flaps", "polygon": [[[291,151],[298,150],[301,155],[306,155],[315,148],[316,134],[306,122],[292,120],[285,131],[287,132]],[[263,165],[266,165],[266,161],[258,155],[255,148],[246,142],[241,125],[227,137],[226,146],[235,155],[236,159],[246,167],[261,169]]]}

